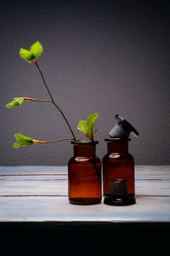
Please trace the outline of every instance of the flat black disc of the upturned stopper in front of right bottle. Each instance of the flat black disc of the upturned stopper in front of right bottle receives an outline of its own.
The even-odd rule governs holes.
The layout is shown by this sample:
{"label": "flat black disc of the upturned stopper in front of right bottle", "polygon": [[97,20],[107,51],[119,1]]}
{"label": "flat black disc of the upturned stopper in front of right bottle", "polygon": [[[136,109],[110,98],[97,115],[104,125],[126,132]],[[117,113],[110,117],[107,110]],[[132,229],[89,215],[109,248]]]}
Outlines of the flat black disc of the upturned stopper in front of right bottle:
{"label": "flat black disc of the upturned stopper in front of right bottle", "polygon": [[131,206],[136,203],[134,197],[114,198],[105,197],[104,204],[109,206]]}

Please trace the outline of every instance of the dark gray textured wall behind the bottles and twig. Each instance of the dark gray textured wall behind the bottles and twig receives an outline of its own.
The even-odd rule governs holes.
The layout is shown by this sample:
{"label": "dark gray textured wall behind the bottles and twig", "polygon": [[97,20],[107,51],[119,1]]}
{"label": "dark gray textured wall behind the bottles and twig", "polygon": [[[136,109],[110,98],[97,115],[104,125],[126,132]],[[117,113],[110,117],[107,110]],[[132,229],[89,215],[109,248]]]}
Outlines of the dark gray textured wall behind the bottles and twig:
{"label": "dark gray textured wall behind the bottles and twig", "polygon": [[39,40],[39,65],[54,99],[76,136],[79,119],[98,112],[97,154],[116,123],[116,113],[139,131],[130,152],[139,165],[170,164],[169,1],[0,2],[1,89],[0,165],[66,165],[68,142],[12,148],[14,133],[39,140],[70,137],[50,103],[5,105],[16,96],[48,99],[34,64],[20,58]]}

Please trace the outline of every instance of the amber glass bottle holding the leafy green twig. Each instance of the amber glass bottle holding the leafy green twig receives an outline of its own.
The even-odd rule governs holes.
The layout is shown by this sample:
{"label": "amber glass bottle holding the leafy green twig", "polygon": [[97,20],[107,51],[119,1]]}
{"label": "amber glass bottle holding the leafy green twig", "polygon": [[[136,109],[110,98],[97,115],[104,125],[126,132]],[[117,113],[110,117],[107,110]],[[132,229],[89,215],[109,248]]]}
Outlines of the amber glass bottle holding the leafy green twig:
{"label": "amber glass bottle holding the leafy green twig", "polygon": [[68,162],[69,202],[92,205],[101,201],[101,161],[95,155],[98,142],[71,142],[74,156]]}

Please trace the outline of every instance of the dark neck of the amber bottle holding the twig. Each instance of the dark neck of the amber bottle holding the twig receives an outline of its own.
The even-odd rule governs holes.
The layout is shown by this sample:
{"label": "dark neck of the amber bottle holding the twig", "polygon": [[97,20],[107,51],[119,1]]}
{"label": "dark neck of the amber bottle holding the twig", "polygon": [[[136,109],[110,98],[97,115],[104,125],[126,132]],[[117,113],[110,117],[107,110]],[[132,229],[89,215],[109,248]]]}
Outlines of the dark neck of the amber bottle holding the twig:
{"label": "dark neck of the amber bottle holding the twig", "polygon": [[75,157],[77,156],[95,157],[96,144],[93,144],[93,143],[75,144],[73,150],[74,150]]}

